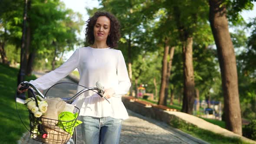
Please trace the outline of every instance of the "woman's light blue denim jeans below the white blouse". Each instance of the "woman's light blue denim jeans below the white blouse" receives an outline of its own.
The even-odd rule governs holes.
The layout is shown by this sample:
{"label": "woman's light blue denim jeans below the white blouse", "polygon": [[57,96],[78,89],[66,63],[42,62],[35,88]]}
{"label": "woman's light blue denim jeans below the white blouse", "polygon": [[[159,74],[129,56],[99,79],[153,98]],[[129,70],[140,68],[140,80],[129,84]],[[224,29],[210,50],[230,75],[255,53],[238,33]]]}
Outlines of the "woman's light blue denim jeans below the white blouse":
{"label": "woman's light blue denim jeans below the white blouse", "polygon": [[121,119],[81,116],[84,144],[118,144],[121,134]]}

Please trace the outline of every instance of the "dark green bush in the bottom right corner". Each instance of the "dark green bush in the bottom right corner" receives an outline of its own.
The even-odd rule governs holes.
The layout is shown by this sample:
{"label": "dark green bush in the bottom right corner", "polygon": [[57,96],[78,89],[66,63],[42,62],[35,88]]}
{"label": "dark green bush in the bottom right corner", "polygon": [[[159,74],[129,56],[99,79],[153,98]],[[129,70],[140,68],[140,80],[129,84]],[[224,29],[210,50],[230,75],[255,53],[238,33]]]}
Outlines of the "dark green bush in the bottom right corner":
{"label": "dark green bush in the bottom right corner", "polygon": [[256,120],[252,120],[243,128],[243,136],[252,140],[256,140]]}

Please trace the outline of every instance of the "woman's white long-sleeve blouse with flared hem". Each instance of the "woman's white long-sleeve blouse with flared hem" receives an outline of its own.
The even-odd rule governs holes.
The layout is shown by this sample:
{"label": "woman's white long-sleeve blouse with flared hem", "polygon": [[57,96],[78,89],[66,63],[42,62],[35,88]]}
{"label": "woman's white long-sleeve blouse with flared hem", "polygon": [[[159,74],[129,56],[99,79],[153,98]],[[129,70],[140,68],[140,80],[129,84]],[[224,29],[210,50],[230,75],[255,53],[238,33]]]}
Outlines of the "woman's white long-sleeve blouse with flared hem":
{"label": "woman's white long-sleeve blouse with flared hem", "polygon": [[[117,49],[94,49],[92,47],[82,47],[76,49],[72,56],[57,69],[31,80],[39,90],[44,90],[54,85],[60,79],[66,77],[75,68],[80,74],[79,85],[95,87],[97,81],[104,85],[105,89],[113,88],[115,95],[109,98],[110,104],[95,92],[85,92],[72,103],[80,109],[80,115],[92,117],[112,117],[127,119],[128,113],[121,101],[121,96],[125,95],[131,82],[122,52]],[[78,92],[82,90],[78,88]]]}

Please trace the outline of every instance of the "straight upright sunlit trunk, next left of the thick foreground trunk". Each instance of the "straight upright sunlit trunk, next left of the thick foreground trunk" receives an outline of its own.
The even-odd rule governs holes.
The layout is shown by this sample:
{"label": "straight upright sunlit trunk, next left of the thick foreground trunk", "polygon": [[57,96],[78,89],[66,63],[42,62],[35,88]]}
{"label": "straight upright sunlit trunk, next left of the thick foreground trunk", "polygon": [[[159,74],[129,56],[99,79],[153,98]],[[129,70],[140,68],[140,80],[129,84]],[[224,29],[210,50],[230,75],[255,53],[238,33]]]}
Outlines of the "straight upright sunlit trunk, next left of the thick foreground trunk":
{"label": "straight upright sunlit trunk, next left of the thick foreground trunk", "polygon": [[182,112],[192,115],[195,99],[195,82],[193,68],[193,38],[188,37],[183,44],[183,75],[184,75],[184,92]]}

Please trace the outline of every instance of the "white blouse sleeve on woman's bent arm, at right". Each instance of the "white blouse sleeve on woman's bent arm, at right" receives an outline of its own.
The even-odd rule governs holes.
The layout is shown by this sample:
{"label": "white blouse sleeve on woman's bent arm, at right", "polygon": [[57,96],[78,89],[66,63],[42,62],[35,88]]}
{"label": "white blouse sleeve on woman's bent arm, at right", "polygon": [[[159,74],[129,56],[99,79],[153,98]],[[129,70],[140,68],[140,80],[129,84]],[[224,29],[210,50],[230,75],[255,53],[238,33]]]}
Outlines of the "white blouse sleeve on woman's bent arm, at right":
{"label": "white blouse sleeve on woman's bent arm, at right", "polygon": [[115,88],[115,95],[125,95],[131,87],[131,82],[128,76],[124,56],[120,50],[118,50],[117,76],[118,88]]}

